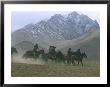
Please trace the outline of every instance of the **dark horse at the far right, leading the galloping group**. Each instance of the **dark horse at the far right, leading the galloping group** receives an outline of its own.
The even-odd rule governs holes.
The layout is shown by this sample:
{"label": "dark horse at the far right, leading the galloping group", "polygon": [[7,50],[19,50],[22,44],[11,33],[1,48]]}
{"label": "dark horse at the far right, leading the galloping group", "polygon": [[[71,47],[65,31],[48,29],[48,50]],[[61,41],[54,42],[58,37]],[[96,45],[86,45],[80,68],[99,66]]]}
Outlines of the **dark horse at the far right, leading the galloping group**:
{"label": "dark horse at the far right, leading the galloping group", "polygon": [[87,55],[86,55],[85,52],[84,53],[72,52],[72,59],[73,59],[73,61],[77,61],[78,64],[81,63],[82,66],[83,66],[83,62],[82,62],[83,58],[87,58]]}

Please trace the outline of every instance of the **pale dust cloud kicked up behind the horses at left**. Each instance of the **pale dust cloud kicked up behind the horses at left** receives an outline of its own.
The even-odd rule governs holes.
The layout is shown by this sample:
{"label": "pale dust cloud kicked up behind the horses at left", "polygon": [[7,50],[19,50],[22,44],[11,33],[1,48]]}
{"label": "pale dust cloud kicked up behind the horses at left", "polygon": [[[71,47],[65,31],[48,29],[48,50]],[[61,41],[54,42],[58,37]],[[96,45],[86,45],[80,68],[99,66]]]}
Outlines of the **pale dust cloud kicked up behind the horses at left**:
{"label": "pale dust cloud kicked up behind the horses at left", "polygon": [[32,59],[32,58],[28,58],[28,59],[24,59],[22,58],[21,56],[16,56],[16,57],[13,57],[11,59],[11,62],[12,63],[27,63],[27,64],[40,64],[40,65],[43,65],[45,64],[42,60],[40,59]]}

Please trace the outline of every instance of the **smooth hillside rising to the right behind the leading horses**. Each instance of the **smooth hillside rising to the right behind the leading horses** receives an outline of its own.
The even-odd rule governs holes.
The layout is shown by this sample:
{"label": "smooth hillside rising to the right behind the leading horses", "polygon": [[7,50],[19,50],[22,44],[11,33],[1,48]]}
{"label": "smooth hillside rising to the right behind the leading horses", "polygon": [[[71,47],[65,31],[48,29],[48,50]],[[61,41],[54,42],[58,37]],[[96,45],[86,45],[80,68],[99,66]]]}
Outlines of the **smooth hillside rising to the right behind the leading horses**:
{"label": "smooth hillside rising to the right behind the leading horses", "polygon": [[88,58],[99,59],[100,32],[91,32],[91,34],[86,34],[85,36],[80,37],[76,41],[69,41],[67,43],[65,42],[64,44],[62,44],[62,48],[58,48],[58,50],[62,50],[64,53],[66,53],[68,48],[72,48],[73,51],[80,48],[82,52],[86,52]]}

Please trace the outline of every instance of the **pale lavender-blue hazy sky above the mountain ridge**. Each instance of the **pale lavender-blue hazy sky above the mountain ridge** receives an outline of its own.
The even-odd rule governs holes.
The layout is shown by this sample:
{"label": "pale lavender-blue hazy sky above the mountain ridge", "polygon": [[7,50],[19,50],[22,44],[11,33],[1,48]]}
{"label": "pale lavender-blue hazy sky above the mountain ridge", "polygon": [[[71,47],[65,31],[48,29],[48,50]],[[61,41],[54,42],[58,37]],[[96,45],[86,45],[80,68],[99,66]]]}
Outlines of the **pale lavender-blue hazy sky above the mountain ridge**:
{"label": "pale lavender-blue hazy sky above the mountain ridge", "polygon": [[[78,11],[77,11],[78,12]],[[24,27],[27,24],[30,23],[37,23],[41,20],[45,20],[45,19],[49,19],[51,16],[53,16],[54,14],[62,14],[62,15],[67,15],[68,13],[70,13],[70,11],[63,11],[63,12],[58,12],[58,11],[50,11],[50,12],[12,12],[11,14],[11,31],[15,31],[18,30],[22,27]],[[100,15],[98,12],[78,12],[79,14],[85,14],[88,17],[90,17],[93,20],[97,20],[98,23],[100,22]]]}

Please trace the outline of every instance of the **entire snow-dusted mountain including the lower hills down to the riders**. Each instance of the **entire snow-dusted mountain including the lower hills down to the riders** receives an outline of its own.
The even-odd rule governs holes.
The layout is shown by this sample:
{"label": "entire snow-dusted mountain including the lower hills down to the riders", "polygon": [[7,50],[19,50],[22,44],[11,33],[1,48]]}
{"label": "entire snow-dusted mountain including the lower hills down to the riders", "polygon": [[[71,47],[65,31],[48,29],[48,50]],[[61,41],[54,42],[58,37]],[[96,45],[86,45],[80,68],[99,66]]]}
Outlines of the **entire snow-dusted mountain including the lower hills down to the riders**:
{"label": "entire snow-dusted mountain including the lower hills down to the riders", "polygon": [[[37,20],[37,19],[36,19]],[[50,45],[66,53],[68,48],[80,48],[88,57],[99,57],[100,27],[96,20],[71,12],[67,16],[55,14],[48,20],[28,24],[11,34],[11,45],[24,53],[38,43],[45,51]]]}

